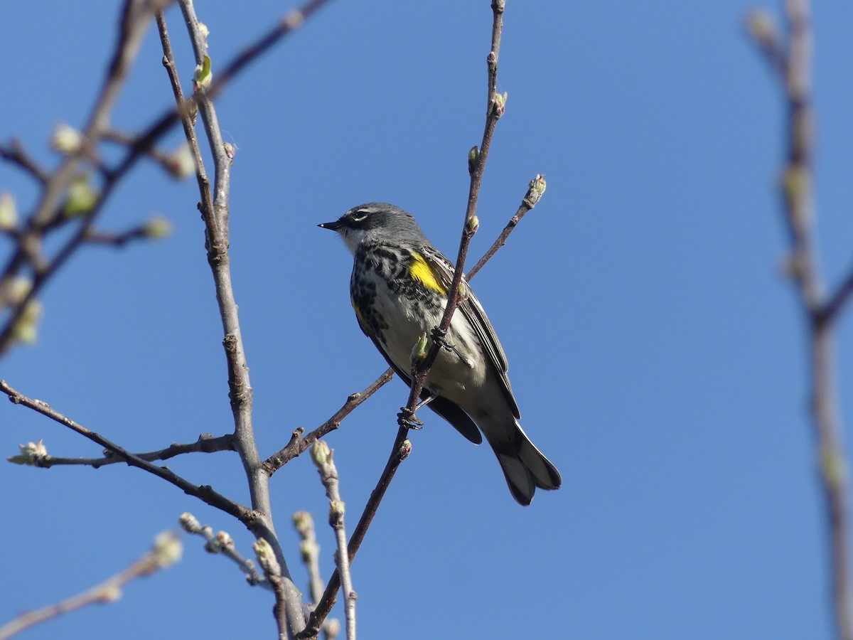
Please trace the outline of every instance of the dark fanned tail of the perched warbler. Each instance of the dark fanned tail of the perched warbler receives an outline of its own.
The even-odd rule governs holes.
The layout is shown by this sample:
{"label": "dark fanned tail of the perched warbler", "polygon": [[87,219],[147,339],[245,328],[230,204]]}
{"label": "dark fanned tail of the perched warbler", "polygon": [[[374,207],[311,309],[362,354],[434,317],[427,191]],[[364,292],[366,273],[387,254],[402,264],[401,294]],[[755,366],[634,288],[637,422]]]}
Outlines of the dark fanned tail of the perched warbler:
{"label": "dark fanned tail of the perched warbler", "polygon": [[[537,487],[559,489],[563,483],[554,464],[536,448],[518,421],[511,428],[484,429],[486,439],[501,463],[509,491],[519,504],[530,504]],[[495,433],[497,431],[497,433]]]}

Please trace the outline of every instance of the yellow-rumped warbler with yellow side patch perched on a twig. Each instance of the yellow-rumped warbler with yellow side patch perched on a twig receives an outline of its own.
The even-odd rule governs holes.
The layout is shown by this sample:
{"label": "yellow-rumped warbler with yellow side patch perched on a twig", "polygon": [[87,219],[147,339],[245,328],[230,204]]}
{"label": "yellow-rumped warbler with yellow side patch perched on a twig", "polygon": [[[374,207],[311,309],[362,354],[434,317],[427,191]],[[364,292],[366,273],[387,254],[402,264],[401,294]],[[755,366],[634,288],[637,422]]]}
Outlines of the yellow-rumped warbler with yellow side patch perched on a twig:
{"label": "yellow-rumped warbler with yellow side patch perched on a twig", "polygon": [[[441,322],[453,264],[432,247],[410,213],[384,202],[355,207],[320,226],[337,231],[355,257],[350,295],[358,324],[410,385],[412,348]],[[501,343],[464,279],[462,287],[447,347],[438,352],[421,399],[475,445],[483,441],[482,431],[509,491],[530,504],[537,486],[560,487],[560,472],[519,425]]]}

